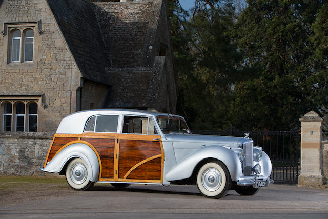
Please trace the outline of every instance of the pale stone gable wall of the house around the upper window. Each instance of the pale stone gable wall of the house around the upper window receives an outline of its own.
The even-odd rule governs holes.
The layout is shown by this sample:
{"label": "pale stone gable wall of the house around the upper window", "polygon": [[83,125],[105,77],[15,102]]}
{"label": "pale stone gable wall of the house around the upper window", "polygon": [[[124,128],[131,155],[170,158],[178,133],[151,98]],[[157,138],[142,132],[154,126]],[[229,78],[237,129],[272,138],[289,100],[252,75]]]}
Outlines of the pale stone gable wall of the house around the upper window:
{"label": "pale stone gable wall of the house around the upper window", "polygon": [[[23,21],[23,22],[22,22]],[[22,30],[32,22],[34,31],[33,62],[11,62],[10,30]],[[43,33],[35,24],[40,21]],[[34,26],[33,26],[34,25]],[[43,0],[3,1],[0,5],[0,101],[2,96],[41,96],[46,108],[38,103],[38,131],[55,131],[61,118],[75,112],[76,89],[80,73],[76,68],[63,35],[58,30],[52,13]],[[9,97],[8,97],[9,96]]]}

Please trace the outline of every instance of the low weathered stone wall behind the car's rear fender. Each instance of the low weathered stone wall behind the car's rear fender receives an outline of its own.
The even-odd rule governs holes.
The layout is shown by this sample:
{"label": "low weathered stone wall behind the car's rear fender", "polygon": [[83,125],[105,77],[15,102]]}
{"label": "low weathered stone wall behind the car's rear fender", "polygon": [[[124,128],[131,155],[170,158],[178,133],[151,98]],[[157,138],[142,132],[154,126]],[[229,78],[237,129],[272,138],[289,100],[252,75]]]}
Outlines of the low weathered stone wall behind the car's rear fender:
{"label": "low weathered stone wall behind the car's rear fender", "polygon": [[54,133],[0,132],[0,175],[46,175],[41,171]]}

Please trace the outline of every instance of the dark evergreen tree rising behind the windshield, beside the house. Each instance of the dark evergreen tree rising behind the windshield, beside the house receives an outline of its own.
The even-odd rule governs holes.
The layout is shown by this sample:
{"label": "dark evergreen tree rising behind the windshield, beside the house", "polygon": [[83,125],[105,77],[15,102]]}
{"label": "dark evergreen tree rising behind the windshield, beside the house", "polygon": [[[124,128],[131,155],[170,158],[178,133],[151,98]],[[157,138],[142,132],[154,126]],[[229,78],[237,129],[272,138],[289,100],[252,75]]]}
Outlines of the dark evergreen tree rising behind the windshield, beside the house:
{"label": "dark evergreen tree rising behind the windshield, beside the house", "polygon": [[240,60],[230,36],[235,11],[232,2],[197,0],[190,13],[183,11],[178,1],[173,3],[170,21],[178,74],[178,113],[193,129],[227,127],[231,85]]}

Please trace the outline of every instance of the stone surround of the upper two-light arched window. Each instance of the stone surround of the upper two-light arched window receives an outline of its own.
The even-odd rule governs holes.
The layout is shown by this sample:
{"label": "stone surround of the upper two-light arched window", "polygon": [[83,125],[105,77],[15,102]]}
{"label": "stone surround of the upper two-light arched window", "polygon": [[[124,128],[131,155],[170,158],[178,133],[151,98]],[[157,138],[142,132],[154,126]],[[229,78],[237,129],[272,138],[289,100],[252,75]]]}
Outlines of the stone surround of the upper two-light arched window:
{"label": "stone surround of the upper two-light arched window", "polygon": [[[11,59],[11,33],[14,29],[20,30],[20,58],[19,61],[12,61]],[[33,58],[32,61],[24,61],[25,59],[25,31],[32,29],[33,36]],[[7,55],[4,56],[4,69],[37,69],[36,55],[39,53],[39,47],[42,41],[42,23],[41,21],[28,21],[28,22],[4,22],[3,30],[0,32],[4,38],[3,51],[7,51]]]}

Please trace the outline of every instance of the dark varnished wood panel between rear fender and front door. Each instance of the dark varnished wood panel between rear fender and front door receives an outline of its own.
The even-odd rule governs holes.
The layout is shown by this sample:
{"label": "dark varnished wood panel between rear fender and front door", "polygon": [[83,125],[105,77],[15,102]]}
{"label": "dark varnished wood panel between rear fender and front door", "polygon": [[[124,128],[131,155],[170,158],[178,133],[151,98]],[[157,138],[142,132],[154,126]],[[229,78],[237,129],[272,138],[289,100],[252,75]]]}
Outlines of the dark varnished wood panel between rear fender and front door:
{"label": "dark varnished wood panel between rear fender and front door", "polygon": [[101,178],[114,178],[114,149],[115,139],[81,138],[81,141],[90,143],[99,153],[103,170]]}

